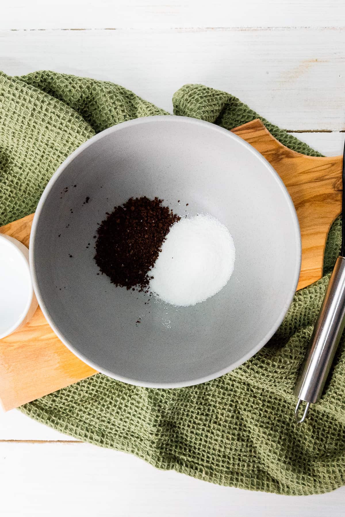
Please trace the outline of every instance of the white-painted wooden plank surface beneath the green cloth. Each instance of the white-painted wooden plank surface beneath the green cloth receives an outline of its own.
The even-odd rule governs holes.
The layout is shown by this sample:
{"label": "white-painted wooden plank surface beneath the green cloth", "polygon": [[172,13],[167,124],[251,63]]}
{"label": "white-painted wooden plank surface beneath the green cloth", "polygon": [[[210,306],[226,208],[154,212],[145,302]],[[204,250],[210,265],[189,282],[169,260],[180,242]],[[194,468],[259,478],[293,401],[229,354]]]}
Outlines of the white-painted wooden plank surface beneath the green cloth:
{"label": "white-painted wooden plank surface beneath the green cloth", "polygon": [[[76,30],[82,29],[82,30]],[[325,155],[345,131],[343,0],[11,0],[0,69],[114,81],[169,111],[184,83],[237,95]],[[1,510],[9,516],[340,516],[345,489],[245,492],[160,472],[82,444],[13,410],[0,414]]]}

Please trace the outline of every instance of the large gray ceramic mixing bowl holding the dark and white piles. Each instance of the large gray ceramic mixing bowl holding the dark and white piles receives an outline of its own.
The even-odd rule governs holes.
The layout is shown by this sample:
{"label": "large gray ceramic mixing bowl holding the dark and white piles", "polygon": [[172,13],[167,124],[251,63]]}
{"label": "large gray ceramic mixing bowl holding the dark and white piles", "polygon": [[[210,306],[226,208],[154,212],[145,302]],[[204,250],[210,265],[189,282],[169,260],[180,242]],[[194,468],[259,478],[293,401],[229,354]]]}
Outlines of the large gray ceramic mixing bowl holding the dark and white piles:
{"label": "large gray ceramic mixing bowl holding the dark and white piles", "polygon": [[[97,275],[98,224],[143,195],[228,226],[235,268],[218,294],[145,305],[143,293]],[[169,388],[227,373],[271,338],[295,292],[301,240],[286,188],[249,144],[204,121],[156,116],[111,127],[65,160],[38,204],[30,252],[41,309],[74,354],[121,381]]]}

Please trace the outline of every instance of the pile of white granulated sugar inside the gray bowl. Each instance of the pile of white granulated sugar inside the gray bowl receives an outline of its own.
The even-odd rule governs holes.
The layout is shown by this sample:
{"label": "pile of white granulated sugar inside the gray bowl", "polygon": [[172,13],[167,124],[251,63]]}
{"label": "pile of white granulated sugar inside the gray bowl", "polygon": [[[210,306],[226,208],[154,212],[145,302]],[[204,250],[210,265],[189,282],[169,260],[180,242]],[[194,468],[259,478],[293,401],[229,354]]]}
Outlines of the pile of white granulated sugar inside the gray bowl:
{"label": "pile of white granulated sugar inside the gray bowl", "polygon": [[218,219],[205,214],[181,219],[163,242],[149,287],[158,300],[195,305],[227,284],[234,262],[234,241]]}

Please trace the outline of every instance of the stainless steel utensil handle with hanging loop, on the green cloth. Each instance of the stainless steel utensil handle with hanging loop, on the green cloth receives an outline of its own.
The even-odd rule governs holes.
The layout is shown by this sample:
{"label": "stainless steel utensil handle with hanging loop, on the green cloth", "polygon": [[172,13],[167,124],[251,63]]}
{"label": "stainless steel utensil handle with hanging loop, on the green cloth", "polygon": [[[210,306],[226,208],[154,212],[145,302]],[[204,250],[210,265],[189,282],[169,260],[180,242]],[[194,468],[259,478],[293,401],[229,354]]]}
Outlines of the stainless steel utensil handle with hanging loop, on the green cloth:
{"label": "stainless steel utensil handle with hanging loop, on the green cloth", "polygon": [[[295,409],[298,423],[304,421],[309,405],[320,399],[344,326],[345,257],[339,256],[314,326],[303,370],[294,390],[298,397]],[[299,419],[298,409],[301,401],[307,402],[307,405],[302,418]]]}

